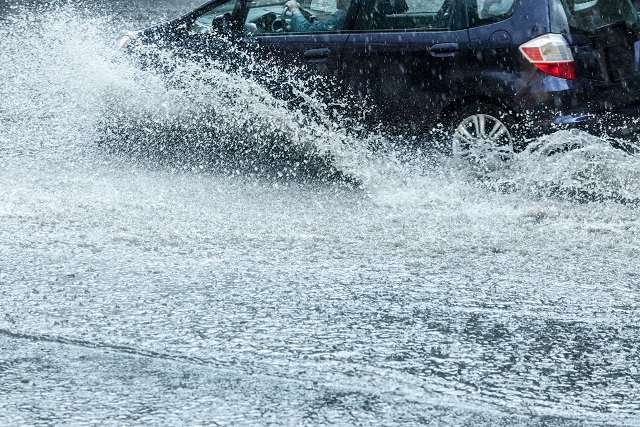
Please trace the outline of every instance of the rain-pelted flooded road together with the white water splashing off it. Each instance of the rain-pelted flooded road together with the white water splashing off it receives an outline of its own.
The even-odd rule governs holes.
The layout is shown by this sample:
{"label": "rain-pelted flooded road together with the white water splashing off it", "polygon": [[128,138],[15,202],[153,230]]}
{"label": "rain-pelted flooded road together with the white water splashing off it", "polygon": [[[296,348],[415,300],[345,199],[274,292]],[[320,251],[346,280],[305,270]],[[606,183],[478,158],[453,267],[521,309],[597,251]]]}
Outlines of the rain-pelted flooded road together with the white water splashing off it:
{"label": "rain-pelted flooded road together with the white water splashing off it", "polygon": [[2,423],[640,425],[640,158],[478,175],[167,87],[117,40],[191,4],[148,3],[2,3]]}

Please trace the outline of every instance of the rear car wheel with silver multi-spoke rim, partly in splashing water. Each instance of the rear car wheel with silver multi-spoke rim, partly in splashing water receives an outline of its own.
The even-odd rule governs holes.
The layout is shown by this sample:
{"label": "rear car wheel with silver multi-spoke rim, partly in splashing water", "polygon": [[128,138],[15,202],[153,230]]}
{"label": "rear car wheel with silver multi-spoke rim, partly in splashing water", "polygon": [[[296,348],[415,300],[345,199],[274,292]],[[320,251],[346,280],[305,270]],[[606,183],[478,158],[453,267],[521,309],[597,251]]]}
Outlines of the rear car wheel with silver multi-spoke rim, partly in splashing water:
{"label": "rear car wheel with silver multi-spoke rim, partly in splashing water", "polygon": [[451,114],[447,123],[445,143],[454,159],[492,167],[513,157],[516,122],[502,108],[467,104]]}

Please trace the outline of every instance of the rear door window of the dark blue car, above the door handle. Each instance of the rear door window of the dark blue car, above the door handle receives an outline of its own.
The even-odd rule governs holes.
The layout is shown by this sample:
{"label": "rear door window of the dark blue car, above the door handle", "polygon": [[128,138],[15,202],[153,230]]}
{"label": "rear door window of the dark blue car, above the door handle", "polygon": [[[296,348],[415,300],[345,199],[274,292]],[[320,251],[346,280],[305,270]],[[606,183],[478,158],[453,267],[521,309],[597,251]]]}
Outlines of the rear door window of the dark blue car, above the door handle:
{"label": "rear door window of the dark blue car, above the door handle", "polygon": [[453,0],[377,0],[370,16],[372,30],[448,28]]}

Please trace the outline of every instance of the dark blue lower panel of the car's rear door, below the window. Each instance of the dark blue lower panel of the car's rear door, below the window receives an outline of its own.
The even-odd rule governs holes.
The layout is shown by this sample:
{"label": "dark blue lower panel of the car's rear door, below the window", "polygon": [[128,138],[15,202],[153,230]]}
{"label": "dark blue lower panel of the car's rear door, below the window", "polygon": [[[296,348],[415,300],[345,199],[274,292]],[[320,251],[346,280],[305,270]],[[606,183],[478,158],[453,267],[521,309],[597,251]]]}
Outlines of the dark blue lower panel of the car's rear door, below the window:
{"label": "dark blue lower panel of the car's rear door, below the window", "polygon": [[451,72],[467,63],[466,30],[352,34],[345,50],[345,79],[387,120],[432,122],[467,90]]}

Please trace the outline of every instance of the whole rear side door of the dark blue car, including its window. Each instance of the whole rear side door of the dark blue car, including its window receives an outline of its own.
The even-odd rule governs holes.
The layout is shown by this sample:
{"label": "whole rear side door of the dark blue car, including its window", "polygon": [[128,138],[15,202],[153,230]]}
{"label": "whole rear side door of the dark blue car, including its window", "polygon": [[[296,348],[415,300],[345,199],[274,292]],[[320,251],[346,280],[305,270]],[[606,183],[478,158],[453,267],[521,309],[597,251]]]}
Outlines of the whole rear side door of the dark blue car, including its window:
{"label": "whole rear side door of the dark blue car, including its window", "polygon": [[431,127],[465,91],[465,27],[461,0],[369,0],[345,46],[345,80],[385,122]]}

